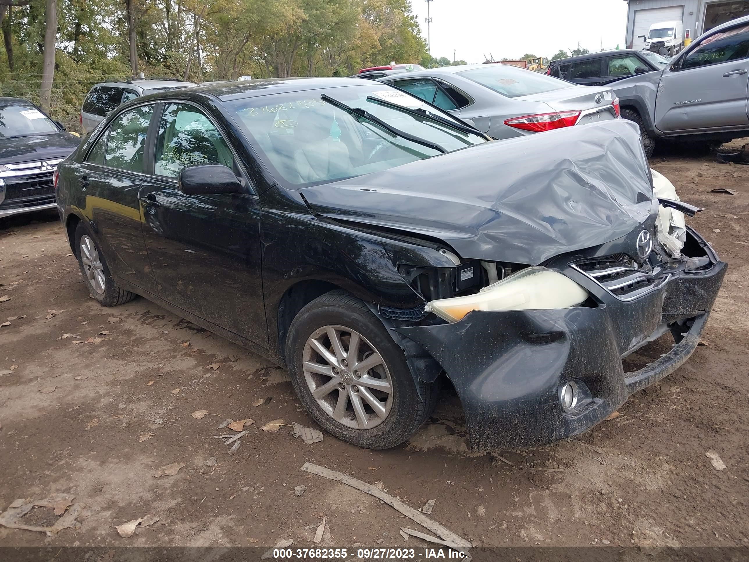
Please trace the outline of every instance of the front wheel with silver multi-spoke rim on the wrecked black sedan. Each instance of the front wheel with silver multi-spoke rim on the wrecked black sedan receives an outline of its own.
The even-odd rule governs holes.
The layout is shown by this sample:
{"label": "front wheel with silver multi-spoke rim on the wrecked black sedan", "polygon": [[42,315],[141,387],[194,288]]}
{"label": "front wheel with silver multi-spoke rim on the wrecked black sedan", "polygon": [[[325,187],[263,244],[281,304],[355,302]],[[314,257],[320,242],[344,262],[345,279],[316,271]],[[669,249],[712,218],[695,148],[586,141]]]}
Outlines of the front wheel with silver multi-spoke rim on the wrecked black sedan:
{"label": "front wheel with silver multi-spoke rim on the wrecked black sedan", "polygon": [[312,418],[359,447],[403,443],[433,403],[434,385],[414,380],[386,327],[349,294],[324,294],[299,312],[289,328],[286,362]]}

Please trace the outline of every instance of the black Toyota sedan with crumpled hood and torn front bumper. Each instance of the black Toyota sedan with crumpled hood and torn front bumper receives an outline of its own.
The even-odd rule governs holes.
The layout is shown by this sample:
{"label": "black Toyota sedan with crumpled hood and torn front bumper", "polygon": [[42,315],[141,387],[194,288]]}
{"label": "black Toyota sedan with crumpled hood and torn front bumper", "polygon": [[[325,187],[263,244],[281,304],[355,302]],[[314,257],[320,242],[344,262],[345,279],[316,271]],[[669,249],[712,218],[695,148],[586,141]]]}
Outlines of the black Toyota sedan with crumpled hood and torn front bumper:
{"label": "black Toyota sedan with crumpled hood and torn front bumper", "polygon": [[56,186],[100,303],[140,294],[270,357],[324,429],[377,449],[443,377],[473,450],[590,429],[689,357],[727,267],[631,123],[492,141],[358,79],[138,98]]}

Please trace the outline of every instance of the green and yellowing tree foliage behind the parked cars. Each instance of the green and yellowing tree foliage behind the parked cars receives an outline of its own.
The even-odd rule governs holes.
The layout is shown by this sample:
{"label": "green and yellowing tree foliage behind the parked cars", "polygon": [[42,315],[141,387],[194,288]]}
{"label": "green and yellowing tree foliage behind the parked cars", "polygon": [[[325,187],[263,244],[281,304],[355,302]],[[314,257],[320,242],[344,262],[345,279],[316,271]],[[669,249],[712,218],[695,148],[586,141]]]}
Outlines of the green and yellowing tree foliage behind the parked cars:
{"label": "green and yellowing tree foliage behind the parked cars", "polygon": [[[0,46],[2,96],[38,102],[45,5],[5,15],[13,49]],[[410,0],[133,0],[133,16],[139,70],[152,77],[348,76],[427,55]],[[69,130],[91,85],[130,76],[127,21],[125,0],[58,0],[50,113]]]}

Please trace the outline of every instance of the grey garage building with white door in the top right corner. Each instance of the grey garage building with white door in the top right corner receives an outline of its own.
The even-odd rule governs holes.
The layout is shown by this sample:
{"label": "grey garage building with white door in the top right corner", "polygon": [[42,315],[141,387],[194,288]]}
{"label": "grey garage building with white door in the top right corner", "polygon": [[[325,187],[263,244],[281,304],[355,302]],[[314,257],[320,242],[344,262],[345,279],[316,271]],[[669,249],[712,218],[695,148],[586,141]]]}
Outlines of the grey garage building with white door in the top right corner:
{"label": "grey garage building with white door in the top right corner", "polygon": [[681,19],[685,37],[694,39],[716,25],[749,15],[749,1],[745,0],[625,1],[629,4],[625,43],[630,49],[643,49],[643,36],[653,23]]}

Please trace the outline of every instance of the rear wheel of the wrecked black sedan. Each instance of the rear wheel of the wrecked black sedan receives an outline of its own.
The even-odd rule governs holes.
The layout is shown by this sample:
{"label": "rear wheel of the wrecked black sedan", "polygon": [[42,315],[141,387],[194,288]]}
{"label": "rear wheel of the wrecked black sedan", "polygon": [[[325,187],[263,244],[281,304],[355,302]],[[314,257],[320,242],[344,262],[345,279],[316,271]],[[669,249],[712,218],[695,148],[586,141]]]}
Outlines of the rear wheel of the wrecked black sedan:
{"label": "rear wheel of the wrecked black sedan", "polygon": [[118,306],[136,297],[135,293],[125,291],[117,286],[109,272],[106,258],[85,223],[76,226],[76,257],[83,274],[83,281],[88,292],[102,306]]}

